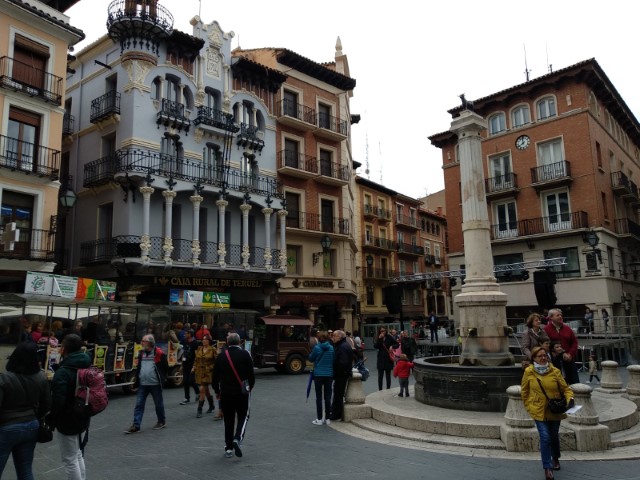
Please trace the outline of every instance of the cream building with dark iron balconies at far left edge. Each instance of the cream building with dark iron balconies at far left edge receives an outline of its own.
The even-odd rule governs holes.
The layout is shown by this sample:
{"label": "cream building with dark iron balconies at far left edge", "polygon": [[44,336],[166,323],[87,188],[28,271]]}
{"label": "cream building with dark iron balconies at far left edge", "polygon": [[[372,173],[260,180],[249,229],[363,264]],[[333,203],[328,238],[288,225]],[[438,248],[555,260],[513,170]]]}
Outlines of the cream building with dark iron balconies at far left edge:
{"label": "cream building with dark iron balconies at far left edge", "polygon": [[58,196],[73,119],[62,106],[67,51],[84,33],[62,11],[76,1],[0,0],[2,291],[23,292],[27,271],[52,272],[64,261],[55,248]]}

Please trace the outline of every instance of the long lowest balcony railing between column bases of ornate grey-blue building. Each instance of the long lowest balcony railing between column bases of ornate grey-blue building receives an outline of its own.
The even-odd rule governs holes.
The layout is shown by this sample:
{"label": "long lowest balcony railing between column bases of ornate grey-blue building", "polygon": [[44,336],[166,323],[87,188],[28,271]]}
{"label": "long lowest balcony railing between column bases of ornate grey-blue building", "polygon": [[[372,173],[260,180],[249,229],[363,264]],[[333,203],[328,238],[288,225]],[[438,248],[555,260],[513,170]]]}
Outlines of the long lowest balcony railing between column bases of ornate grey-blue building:
{"label": "long lowest balcony railing between column bases of ornate grey-blue building", "polygon": [[[97,265],[110,263],[114,259],[135,259],[139,258],[141,254],[140,250],[140,237],[136,235],[120,235],[113,238],[102,238],[98,240],[91,240],[88,242],[82,242],[80,244],[80,265]],[[151,247],[149,248],[149,258],[152,262],[164,263],[164,245],[163,237],[151,237]],[[185,268],[193,269],[193,252],[191,251],[192,242],[187,239],[173,239],[173,251],[171,252],[171,259],[174,262],[178,262],[174,266],[180,267],[179,263],[183,263]],[[218,256],[218,244],[217,242],[200,242],[201,253],[198,257],[201,266],[216,266],[220,262]],[[225,262],[227,268],[238,267],[244,270],[242,265],[242,246],[227,244],[227,254],[225,255]],[[252,268],[264,268],[264,252],[263,247],[251,247],[249,249],[249,265]],[[273,268],[280,268],[279,250],[271,250],[271,265]],[[130,263],[127,261],[127,263]],[[133,263],[133,262],[131,262]]]}

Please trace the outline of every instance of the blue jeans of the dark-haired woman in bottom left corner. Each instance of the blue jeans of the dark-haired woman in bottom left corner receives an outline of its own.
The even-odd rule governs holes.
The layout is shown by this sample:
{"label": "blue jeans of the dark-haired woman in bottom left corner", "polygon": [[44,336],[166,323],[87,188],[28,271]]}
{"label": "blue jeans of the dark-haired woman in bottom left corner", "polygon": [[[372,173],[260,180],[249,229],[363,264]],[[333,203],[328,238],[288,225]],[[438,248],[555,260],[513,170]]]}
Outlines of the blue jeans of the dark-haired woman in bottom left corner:
{"label": "blue jeans of the dark-haired woman in bottom left corner", "polygon": [[38,420],[36,419],[0,425],[0,477],[9,460],[9,454],[12,454],[16,476],[20,480],[33,480],[31,465],[37,438]]}

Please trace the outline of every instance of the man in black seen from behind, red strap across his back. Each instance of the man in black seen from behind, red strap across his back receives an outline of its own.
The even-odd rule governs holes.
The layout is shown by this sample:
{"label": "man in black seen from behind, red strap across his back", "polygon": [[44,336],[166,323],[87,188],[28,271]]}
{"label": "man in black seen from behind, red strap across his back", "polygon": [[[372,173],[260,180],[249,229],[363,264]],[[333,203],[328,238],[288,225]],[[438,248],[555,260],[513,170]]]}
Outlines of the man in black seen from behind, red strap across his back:
{"label": "man in black seen from behind, red strap across his back", "polygon": [[250,396],[249,392],[243,393],[242,382],[247,380],[251,391],[255,376],[251,355],[240,348],[240,335],[229,333],[227,345],[228,348],[223,349],[216,359],[212,386],[216,398],[220,400],[224,418],[224,456],[229,458],[234,451],[236,457],[242,456],[242,439],[247,426]]}

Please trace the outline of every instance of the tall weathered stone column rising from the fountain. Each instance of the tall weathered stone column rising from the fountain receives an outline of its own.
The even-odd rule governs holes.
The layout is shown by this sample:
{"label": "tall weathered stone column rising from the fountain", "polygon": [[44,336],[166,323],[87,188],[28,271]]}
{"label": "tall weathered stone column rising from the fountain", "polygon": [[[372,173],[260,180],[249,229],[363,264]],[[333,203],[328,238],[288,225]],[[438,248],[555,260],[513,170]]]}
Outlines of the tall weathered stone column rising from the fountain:
{"label": "tall weathered stone column rising from the fountain", "polygon": [[486,121],[464,110],[451,122],[458,136],[462,189],[465,284],[455,302],[460,309],[461,365],[513,365],[507,338],[507,295],[493,275],[489,213],[484,190],[482,138]]}

